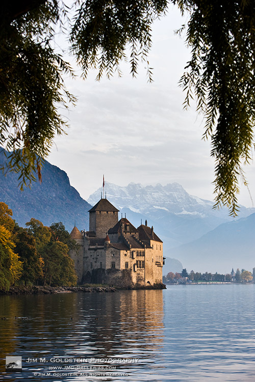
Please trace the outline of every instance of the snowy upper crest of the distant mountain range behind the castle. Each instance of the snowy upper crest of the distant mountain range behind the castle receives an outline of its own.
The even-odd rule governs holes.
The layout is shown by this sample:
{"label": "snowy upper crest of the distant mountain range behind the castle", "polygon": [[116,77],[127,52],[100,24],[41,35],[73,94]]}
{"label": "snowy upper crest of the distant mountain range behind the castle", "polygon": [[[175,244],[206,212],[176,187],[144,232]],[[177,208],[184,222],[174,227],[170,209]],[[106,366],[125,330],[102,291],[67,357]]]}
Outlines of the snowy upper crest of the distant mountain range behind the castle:
{"label": "snowy upper crest of the distant mountain range behind the castle", "polygon": [[[155,186],[143,186],[140,183],[129,183],[127,186],[105,182],[107,198],[121,208],[130,208],[134,212],[149,213],[151,210],[161,210],[188,217],[216,216],[217,219],[232,220],[228,210],[212,209],[214,202],[189,195],[179,183],[168,183],[163,186],[158,183]],[[100,197],[101,188],[98,188],[88,202],[96,203]],[[255,212],[255,208],[242,207],[239,217],[245,217]]]}

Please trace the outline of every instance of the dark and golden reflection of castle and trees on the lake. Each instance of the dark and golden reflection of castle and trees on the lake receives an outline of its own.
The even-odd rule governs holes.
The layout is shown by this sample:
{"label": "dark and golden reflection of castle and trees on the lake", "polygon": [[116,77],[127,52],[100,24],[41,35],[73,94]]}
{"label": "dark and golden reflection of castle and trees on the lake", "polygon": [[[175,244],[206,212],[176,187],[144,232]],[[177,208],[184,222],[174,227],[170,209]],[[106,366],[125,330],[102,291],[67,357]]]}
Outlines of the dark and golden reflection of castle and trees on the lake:
{"label": "dark and golden reflection of castle and trees on the lake", "polygon": [[[162,290],[0,296],[0,306],[0,316],[7,317],[0,321],[1,372],[6,356],[22,356],[23,371],[16,378],[48,380],[32,372],[52,363],[24,362],[28,358],[140,358],[139,367],[144,367],[153,362],[162,346]],[[119,365],[118,370],[127,366],[137,372],[134,364]],[[5,376],[14,380],[11,374]],[[63,379],[77,377],[56,378]]]}

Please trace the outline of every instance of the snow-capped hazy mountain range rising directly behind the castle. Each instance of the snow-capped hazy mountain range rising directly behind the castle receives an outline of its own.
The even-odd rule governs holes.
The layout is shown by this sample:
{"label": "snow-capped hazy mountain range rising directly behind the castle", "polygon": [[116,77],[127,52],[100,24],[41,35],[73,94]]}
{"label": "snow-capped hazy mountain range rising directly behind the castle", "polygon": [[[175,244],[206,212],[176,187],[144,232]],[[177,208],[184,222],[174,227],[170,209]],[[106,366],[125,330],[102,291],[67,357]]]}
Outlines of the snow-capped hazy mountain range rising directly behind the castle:
{"label": "snow-capped hazy mountain range rising directly behind the castle", "polygon": [[[147,219],[164,241],[169,251],[183,243],[198,239],[218,225],[233,221],[228,210],[214,210],[212,201],[189,195],[179,183],[162,186],[142,186],[130,183],[125,187],[106,182],[107,198],[122,212],[128,212],[127,218],[140,221]],[[101,189],[90,195],[88,202],[96,203]],[[255,212],[255,208],[241,207],[239,217]]]}

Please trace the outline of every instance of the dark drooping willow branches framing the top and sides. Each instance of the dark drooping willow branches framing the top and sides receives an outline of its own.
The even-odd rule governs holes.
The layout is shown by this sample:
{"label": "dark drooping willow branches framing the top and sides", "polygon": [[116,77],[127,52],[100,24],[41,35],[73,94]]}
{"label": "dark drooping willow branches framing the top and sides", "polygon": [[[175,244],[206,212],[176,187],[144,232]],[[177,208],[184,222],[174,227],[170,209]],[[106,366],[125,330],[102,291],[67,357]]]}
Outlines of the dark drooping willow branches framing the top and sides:
{"label": "dark drooping willow branches framing the top and sides", "polygon": [[[204,138],[212,139],[215,207],[227,205],[235,215],[240,178],[246,184],[242,165],[253,148],[255,8],[251,0],[171,2],[190,15],[186,36],[191,59],[181,85],[186,106],[196,97],[206,120]],[[85,77],[94,67],[98,79],[104,72],[108,77],[120,72],[130,46],[133,76],[141,58],[150,80],[151,24],[167,8],[166,0],[76,1],[75,16],[68,20],[67,8],[59,4],[10,0],[0,6],[0,136],[13,150],[7,168],[20,171],[21,187],[35,178],[34,171],[41,178],[41,157],[48,154],[54,135],[63,133],[66,123],[57,105],[74,101],[63,81],[64,73],[72,74],[70,66],[53,49],[55,24],[70,22],[71,51]]]}

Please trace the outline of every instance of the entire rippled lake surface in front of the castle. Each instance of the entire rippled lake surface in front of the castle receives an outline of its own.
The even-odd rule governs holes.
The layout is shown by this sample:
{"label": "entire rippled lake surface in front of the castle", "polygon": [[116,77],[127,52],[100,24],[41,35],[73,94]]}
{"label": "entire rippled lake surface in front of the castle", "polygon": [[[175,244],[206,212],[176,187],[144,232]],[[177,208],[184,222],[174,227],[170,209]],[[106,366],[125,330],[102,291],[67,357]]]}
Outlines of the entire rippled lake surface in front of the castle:
{"label": "entire rippled lake surface in front of the castle", "polygon": [[[1,375],[254,382],[254,297],[253,284],[0,296]],[[6,356],[22,357],[21,373],[5,372]]]}

